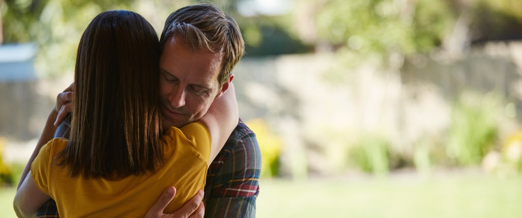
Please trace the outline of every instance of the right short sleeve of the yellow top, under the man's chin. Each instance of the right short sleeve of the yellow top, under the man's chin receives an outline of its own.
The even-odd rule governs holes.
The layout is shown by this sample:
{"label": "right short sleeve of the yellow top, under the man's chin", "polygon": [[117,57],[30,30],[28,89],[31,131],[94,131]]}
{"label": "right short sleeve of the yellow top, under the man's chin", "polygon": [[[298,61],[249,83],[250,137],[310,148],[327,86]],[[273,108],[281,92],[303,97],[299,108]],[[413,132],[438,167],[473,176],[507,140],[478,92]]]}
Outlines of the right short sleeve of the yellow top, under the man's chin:
{"label": "right short sleeve of the yellow top, under the man's chin", "polygon": [[194,149],[208,162],[210,158],[210,132],[207,126],[197,121],[184,125],[180,130],[192,142]]}

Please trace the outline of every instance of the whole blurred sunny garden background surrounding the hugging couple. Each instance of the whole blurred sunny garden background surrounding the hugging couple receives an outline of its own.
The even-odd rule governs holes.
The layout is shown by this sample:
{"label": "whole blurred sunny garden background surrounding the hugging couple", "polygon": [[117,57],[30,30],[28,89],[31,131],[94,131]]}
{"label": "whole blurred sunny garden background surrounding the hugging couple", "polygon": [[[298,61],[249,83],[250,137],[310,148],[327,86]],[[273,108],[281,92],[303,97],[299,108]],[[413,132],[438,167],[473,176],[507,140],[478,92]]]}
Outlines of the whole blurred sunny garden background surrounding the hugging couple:
{"label": "whole blurred sunny garden background surrounding the hugging couple", "polygon": [[[0,0],[0,216],[94,16],[196,1]],[[520,217],[522,1],[216,0],[238,21],[258,217]]]}

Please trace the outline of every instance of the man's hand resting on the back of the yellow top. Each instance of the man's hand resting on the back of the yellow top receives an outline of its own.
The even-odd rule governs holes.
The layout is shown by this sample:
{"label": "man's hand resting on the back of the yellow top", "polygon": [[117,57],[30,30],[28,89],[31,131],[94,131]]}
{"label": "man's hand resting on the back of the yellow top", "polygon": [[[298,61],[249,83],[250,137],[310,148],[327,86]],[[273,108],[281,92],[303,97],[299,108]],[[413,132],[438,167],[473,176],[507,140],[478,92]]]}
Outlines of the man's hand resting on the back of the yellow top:
{"label": "man's hand resting on the back of the yellow top", "polygon": [[174,199],[176,195],[176,188],[168,187],[163,191],[160,198],[152,207],[150,207],[147,214],[145,214],[145,218],[158,218],[158,217],[168,217],[168,218],[203,218],[205,215],[205,206],[203,205],[203,190],[199,190],[198,193],[192,197],[181,209],[175,211],[174,213],[167,214],[163,213],[163,210],[167,205]]}

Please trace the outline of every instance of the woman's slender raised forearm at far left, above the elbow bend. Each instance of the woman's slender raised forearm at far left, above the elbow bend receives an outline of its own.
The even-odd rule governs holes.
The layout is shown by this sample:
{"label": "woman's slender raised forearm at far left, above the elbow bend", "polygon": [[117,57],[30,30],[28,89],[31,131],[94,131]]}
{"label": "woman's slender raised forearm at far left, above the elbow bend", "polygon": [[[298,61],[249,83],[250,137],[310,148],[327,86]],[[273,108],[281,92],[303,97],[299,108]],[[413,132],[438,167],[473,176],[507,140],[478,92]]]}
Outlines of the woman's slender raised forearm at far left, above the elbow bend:
{"label": "woman's slender raised forearm at far left, above the elbow bend", "polygon": [[54,137],[54,132],[56,131],[56,126],[54,126],[54,121],[56,121],[56,116],[58,112],[56,111],[55,107],[51,109],[51,112],[49,112],[49,117],[47,118],[47,121],[45,122],[45,126],[43,127],[42,135],[40,135],[40,139],[38,140],[38,143],[36,147],[34,148],[34,151],[29,158],[29,161],[27,162],[26,168],[23,169],[22,175],[20,177],[20,181],[18,182],[17,189],[20,188],[20,185],[23,183],[23,180],[26,178],[27,173],[29,173],[29,170],[31,169],[31,163],[33,162],[34,158],[38,156],[38,152],[40,152],[40,148],[42,148],[45,143],[49,142]]}

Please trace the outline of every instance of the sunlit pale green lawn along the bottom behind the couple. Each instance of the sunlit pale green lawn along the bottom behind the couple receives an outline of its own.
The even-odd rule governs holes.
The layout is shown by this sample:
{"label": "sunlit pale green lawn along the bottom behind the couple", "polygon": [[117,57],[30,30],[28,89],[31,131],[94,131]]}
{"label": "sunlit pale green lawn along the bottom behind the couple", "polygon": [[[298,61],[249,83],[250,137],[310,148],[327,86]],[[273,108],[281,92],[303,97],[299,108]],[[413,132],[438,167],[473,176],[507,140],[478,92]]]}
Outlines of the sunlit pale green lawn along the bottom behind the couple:
{"label": "sunlit pale green lawn along the bottom behind the couple", "polygon": [[[522,177],[262,179],[257,217],[522,217]],[[15,217],[14,188],[0,189],[0,217]]]}

